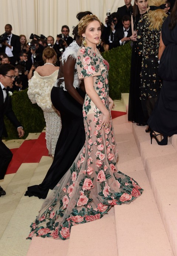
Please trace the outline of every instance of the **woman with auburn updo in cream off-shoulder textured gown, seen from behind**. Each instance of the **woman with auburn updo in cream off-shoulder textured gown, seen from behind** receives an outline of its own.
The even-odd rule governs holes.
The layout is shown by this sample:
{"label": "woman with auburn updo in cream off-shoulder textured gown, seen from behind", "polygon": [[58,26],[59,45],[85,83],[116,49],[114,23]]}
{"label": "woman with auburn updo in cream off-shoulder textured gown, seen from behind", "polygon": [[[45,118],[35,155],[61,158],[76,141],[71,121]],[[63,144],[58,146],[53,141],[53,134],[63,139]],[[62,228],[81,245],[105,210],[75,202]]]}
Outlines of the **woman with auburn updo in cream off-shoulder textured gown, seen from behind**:
{"label": "woman with auburn updo in cream off-shoulder textured gown, seen from behind", "polygon": [[55,66],[56,52],[53,48],[45,48],[42,57],[45,64],[37,67],[34,76],[28,81],[28,97],[44,111],[46,145],[49,155],[53,156],[62,127],[60,115],[51,102],[51,89],[57,80],[59,67]]}

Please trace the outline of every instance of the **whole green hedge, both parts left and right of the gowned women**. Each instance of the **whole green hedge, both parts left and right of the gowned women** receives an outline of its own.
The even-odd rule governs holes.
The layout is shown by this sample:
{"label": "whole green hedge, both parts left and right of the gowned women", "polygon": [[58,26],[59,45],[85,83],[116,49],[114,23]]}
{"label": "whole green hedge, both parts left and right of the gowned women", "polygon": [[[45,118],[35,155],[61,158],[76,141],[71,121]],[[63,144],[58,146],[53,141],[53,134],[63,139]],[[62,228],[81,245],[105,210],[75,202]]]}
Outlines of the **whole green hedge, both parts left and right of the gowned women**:
{"label": "whole green hedge, both parts left and right of the gowned women", "polygon": [[[121,99],[122,92],[129,92],[131,46],[128,43],[125,44],[125,46],[113,48],[112,50],[103,53],[103,58],[110,64],[110,97],[113,100],[119,100]],[[25,136],[23,138],[26,138],[30,132],[41,132],[45,127],[43,111],[37,104],[31,103],[27,95],[27,90],[28,89],[14,92],[11,96],[13,111],[23,125],[25,131]],[[6,117],[4,120],[8,139],[18,139],[17,130]]]}

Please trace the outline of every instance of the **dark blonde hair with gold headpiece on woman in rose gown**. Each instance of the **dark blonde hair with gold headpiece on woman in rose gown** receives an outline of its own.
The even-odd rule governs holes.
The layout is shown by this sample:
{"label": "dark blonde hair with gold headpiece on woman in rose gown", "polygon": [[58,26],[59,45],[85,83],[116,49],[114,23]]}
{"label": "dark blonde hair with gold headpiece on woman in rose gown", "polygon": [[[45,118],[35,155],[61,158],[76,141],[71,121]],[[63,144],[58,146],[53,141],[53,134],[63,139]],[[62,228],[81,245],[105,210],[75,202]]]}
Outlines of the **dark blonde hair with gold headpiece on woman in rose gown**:
{"label": "dark blonde hair with gold headpiece on woman in rose gown", "polygon": [[89,25],[89,23],[91,23],[94,20],[97,20],[100,23],[100,27],[101,27],[101,21],[94,14],[87,14],[86,16],[81,18],[81,20],[79,21],[78,34],[79,34],[81,40],[83,39],[82,34],[85,33],[87,26]]}

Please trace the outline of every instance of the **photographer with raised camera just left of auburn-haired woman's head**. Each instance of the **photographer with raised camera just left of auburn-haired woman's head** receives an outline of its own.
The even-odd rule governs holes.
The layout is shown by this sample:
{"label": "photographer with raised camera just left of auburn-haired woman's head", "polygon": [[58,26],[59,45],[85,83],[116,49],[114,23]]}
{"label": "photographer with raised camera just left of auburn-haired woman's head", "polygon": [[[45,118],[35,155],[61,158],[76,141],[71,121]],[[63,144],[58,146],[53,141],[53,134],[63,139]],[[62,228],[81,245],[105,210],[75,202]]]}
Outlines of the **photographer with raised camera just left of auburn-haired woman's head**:
{"label": "photographer with raised camera just left of auburn-haired woman's head", "polygon": [[28,51],[28,61],[26,65],[26,70],[30,72],[32,65],[38,67],[42,66],[43,64],[44,63],[42,60],[42,50],[39,47],[39,42],[33,39],[30,43],[30,50]]}

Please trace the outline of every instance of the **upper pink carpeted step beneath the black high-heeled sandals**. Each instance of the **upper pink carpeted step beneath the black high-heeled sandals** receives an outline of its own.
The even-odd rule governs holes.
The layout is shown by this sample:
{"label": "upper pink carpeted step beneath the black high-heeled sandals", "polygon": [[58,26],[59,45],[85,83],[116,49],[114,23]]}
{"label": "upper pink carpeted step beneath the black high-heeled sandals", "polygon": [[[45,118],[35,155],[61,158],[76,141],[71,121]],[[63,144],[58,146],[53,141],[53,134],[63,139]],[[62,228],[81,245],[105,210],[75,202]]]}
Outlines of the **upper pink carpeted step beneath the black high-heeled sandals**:
{"label": "upper pink carpeted step beneath the black high-heeled sandals", "polygon": [[170,141],[160,146],[153,139],[151,145],[145,127],[132,127],[171,248],[177,255],[177,152]]}

